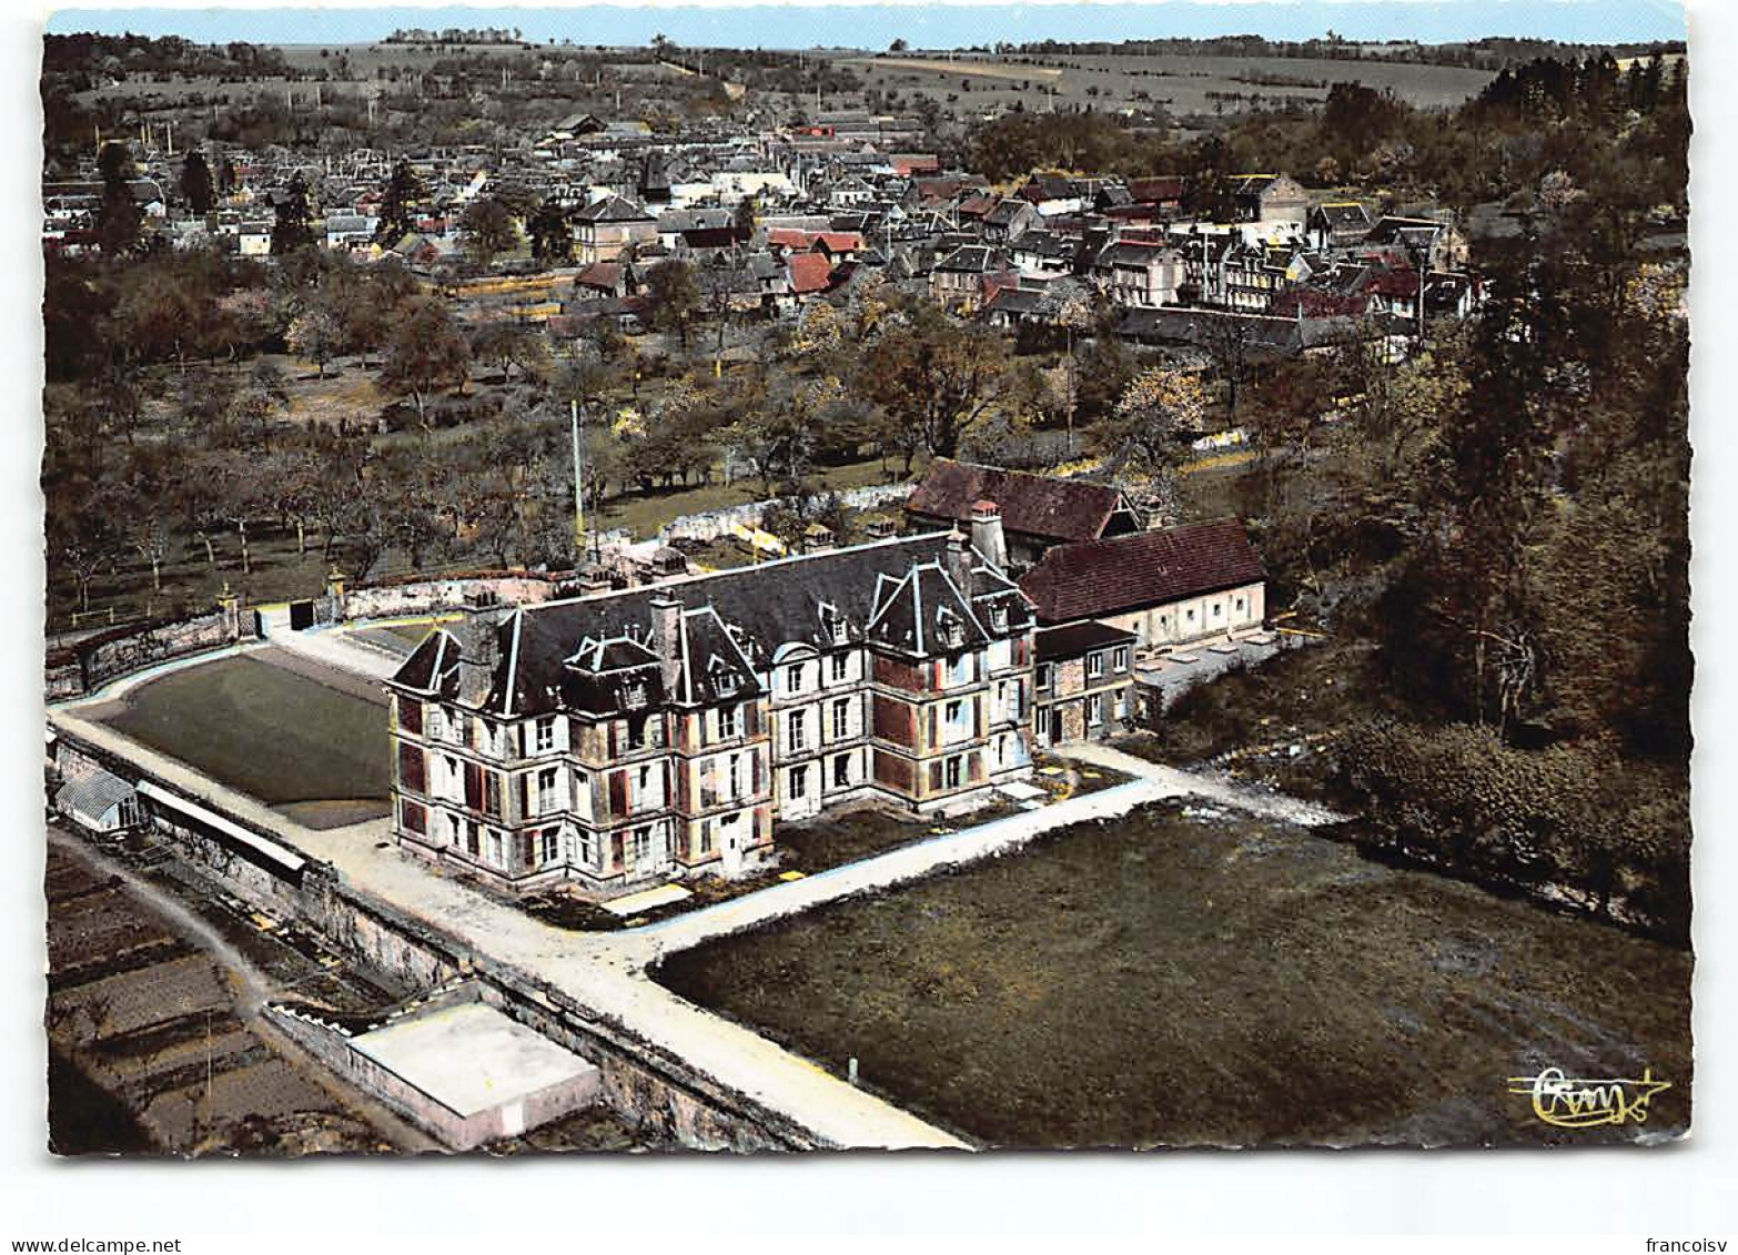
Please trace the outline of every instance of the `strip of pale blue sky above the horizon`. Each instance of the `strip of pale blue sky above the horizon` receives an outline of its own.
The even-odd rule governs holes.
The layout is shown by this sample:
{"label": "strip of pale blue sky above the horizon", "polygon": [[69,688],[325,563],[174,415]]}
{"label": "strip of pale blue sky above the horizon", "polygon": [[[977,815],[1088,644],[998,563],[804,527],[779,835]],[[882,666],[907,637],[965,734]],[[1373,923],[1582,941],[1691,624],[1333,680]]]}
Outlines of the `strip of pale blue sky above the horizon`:
{"label": "strip of pale blue sky above the horizon", "polygon": [[63,9],[50,33],[181,35],[198,42],[365,43],[400,26],[518,26],[527,38],[640,45],[657,33],[713,47],[912,47],[994,40],[1264,35],[1446,43],[1486,35],[1566,43],[1684,38],[1675,0],[1164,0],[1161,3],[622,5],[567,9]]}

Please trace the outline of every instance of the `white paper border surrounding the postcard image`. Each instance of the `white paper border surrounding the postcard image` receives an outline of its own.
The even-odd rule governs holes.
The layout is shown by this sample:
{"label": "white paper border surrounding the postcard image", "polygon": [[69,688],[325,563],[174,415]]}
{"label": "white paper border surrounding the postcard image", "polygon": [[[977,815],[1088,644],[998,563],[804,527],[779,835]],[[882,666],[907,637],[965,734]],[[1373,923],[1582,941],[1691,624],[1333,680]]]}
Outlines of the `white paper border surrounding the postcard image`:
{"label": "white paper border surrounding the postcard image", "polygon": [[[1535,0],[1547,3],[1550,0]],[[1738,772],[1726,720],[1738,718],[1738,662],[1724,657],[1738,612],[1733,473],[1738,396],[1738,12],[1691,0],[1693,436],[1696,443],[1695,758],[1698,893],[1696,1133],[1663,1151],[1262,1152],[992,1156],[977,1161],[843,1156],[806,1159],[546,1159],[494,1163],[104,1165],[43,1151],[40,840],[42,520],[40,162],[36,59],[43,14],[7,12],[5,165],[0,189],[0,353],[12,400],[0,457],[0,1243],[14,1238],[249,1234],[255,1250],[457,1248],[474,1234],[504,1248],[666,1250],[751,1232],[1604,1232],[1735,1236],[1738,1125],[1733,1104],[1733,925],[1728,815]],[[1404,21],[1404,12],[1396,14]],[[841,33],[841,42],[848,33]],[[398,1241],[379,1241],[396,1238]],[[1616,1243],[1611,1243],[1616,1248]],[[184,1250],[233,1243],[188,1241]],[[810,1246],[813,1246],[810,1243]],[[1326,1248],[1326,1243],[1321,1243]],[[1641,1252],[1639,1241],[1622,1243]],[[1152,1243],[1142,1243],[1152,1250]]]}

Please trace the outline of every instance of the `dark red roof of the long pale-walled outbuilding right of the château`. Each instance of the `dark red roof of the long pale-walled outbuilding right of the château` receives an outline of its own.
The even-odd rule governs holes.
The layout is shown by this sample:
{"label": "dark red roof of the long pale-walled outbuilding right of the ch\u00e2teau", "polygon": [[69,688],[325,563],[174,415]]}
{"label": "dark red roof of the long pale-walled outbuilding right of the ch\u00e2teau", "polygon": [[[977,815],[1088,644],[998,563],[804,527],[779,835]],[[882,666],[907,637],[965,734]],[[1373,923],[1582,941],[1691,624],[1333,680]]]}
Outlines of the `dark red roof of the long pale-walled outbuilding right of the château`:
{"label": "dark red roof of the long pale-walled outbuilding right of the ch\u00e2teau", "polygon": [[1064,544],[1020,577],[1039,622],[1142,610],[1265,579],[1243,521],[1220,518]]}

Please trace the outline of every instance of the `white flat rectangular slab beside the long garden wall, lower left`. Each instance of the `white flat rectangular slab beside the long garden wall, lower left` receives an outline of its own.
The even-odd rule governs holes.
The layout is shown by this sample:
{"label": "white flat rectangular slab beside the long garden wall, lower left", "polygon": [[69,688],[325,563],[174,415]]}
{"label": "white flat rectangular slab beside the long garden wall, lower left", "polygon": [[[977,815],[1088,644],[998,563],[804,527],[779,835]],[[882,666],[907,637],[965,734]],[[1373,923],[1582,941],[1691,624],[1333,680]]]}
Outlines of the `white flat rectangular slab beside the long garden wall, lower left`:
{"label": "white flat rectangular slab beside the long garden wall, lower left", "polygon": [[598,1071],[487,1003],[447,1006],[363,1033],[351,1046],[466,1118]]}

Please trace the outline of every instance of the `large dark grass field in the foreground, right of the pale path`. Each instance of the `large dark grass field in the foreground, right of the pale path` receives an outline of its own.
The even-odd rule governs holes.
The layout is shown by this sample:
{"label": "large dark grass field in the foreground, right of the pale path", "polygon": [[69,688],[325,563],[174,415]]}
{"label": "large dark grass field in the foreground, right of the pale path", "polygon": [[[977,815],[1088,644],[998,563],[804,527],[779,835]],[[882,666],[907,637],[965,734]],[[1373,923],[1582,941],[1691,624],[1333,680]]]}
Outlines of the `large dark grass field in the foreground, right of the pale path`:
{"label": "large dark grass field in the foreground, right of the pale path", "polygon": [[[1688,954],[1241,817],[1152,808],[666,961],[994,1145],[1536,1144],[1689,1121]],[[1672,1083],[1552,1130],[1509,1078]]]}

